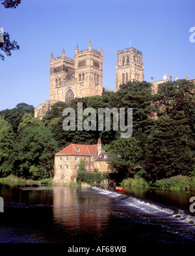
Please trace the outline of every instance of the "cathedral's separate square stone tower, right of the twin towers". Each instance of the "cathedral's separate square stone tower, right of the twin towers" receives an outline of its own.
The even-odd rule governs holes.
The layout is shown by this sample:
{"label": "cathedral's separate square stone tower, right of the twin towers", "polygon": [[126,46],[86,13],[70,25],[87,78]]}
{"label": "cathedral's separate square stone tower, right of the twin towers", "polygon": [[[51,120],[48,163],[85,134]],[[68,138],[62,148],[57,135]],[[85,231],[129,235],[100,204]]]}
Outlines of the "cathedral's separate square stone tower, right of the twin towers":
{"label": "cathedral's separate square stone tower, right of the twin towers", "polygon": [[116,63],[116,91],[120,84],[127,84],[133,80],[144,80],[142,52],[133,47],[119,50]]}

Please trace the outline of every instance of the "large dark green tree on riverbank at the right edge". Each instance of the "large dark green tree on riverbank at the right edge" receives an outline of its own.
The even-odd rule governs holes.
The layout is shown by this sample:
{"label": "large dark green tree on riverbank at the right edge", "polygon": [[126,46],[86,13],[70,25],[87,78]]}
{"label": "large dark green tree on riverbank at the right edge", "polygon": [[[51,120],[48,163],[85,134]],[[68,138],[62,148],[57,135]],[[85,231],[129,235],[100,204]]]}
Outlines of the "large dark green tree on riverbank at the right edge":
{"label": "large dark green tree on riverbank at the right edge", "polygon": [[155,129],[148,136],[148,157],[143,161],[145,178],[155,182],[178,174],[188,175],[194,170],[194,140],[183,111],[174,118],[168,114],[155,121]]}

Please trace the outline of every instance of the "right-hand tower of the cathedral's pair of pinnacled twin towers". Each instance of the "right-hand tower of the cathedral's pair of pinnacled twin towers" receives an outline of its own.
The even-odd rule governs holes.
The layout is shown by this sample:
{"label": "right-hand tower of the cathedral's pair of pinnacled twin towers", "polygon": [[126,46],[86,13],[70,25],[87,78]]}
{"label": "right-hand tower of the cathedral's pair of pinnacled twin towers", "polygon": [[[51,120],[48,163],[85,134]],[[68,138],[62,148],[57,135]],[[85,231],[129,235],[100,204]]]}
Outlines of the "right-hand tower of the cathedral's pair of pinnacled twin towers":
{"label": "right-hand tower of the cathedral's pair of pinnacled twin towers", "polygon": [[75,80],[77,97],[101,95],[103,92],[103,50],[92,50],[90,42],[87,50],[75,50]]}

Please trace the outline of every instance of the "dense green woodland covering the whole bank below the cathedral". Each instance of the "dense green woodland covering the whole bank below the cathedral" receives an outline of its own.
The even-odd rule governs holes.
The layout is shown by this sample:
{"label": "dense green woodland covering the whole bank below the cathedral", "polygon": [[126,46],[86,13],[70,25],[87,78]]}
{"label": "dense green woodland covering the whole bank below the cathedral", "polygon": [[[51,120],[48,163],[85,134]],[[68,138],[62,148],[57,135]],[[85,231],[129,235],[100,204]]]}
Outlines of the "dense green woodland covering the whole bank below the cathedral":
{"label": "dense green woodland covering the whole bank below the cathedral", "polygon": [[[43,120],[34,118],[34,108],[19,103],[16,108],[0,112],[0,176],[9,174],[47,179],[53,176],[53,156],[70,143],[96,144],[101,138],[103,149],[109,153],[110,169],[118,182],[127,179],[138,184],[158,184],[173,176],[195,176],[195,86],[187,80],[165,82],[151,95],[151,84],[128,82],[115,93],[74,99],[70,104],[56,103]],[[77,131],[77,103],[83,110],[93,108],[96,120],[93,131]],[[64,131],[64,108],[75,110],[76,131]],[[122,138],[120,116],[118,130],[113,131],[114,115],[110,115],[110,131],[98,130],[99,108],[133,108],[133,135]],[[127,114],[127,112],[126,112]],[[83,121],[90,115],[83,114]],[[116,120],[115,120],[116,125]],[[82,163],[81,163],[82,167]],[[81,168],[79,167],[79,168]],[[78,180],[99,183],[101,175],[85,174],[85,165]]]}

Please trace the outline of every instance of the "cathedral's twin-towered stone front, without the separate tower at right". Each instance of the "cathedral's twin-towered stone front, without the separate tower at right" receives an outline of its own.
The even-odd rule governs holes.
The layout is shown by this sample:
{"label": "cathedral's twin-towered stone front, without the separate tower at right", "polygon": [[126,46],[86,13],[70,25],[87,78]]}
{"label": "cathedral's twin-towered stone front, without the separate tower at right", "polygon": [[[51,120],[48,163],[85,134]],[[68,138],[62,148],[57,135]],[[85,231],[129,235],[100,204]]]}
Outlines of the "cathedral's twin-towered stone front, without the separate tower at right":
{"label": "cathedral's twin-towered stone front, without the separate tower at right", "polygon": [[77,97],[101,95],[103,92],[103,50],[93,50],[92,43],[88,49],[79,51],[77,46],[73,59],[50,56],[49,101],[34,110],[34,117],[42,119],[51,104],[57,101],[70,103]]}

